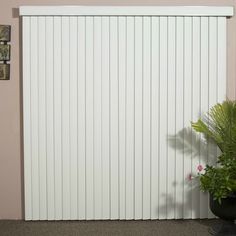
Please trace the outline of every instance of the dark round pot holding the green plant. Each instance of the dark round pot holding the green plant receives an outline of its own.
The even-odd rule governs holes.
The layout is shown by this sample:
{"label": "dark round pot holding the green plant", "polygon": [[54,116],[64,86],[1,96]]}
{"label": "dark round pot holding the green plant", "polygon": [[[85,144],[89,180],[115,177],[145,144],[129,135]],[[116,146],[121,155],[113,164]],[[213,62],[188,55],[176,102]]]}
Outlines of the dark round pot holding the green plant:
{"label": "dark round pot holding the green plant", "polygon": [[223,198],[221,204],[217,200],[213,200],[210,195],[210,209],[214,215],[223,220],[236,220],[236,194]]}

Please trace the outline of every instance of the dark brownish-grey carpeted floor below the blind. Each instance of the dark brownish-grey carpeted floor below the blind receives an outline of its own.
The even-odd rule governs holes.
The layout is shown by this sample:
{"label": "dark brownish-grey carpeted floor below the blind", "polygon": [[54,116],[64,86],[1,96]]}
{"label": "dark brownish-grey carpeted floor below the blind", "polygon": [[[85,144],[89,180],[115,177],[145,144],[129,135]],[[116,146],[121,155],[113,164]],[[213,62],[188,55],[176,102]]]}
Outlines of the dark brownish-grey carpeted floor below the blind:
{"label": "dark brownish-grey carpeted floor below the blind", "polygon": [[[208,236],[220,220],[41,221],[0,220],[0,236]],[[217,236],[236,235],[217,233]],[[223,232],[221,231],[221,232]]]}

